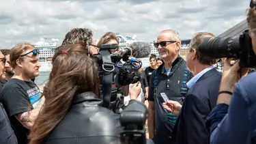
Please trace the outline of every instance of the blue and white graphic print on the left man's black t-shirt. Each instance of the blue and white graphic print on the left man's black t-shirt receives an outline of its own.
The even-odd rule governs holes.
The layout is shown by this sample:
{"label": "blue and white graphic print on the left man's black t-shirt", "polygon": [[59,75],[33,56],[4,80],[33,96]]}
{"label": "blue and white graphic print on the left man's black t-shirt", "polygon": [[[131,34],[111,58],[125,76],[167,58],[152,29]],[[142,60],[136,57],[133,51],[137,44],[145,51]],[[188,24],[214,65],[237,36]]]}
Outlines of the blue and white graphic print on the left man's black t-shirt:
{"label": "blue and white graphic print on the left man's black t-shirt", "polygon": [[33,108],[35,108],[35,106],[38,105],[38,102],[40,102],[40,89],[38,89],[38,87],[34,87],[33,89],[29,89],[27,91],[27,94],[29,95],[29,100],[33,106]]}

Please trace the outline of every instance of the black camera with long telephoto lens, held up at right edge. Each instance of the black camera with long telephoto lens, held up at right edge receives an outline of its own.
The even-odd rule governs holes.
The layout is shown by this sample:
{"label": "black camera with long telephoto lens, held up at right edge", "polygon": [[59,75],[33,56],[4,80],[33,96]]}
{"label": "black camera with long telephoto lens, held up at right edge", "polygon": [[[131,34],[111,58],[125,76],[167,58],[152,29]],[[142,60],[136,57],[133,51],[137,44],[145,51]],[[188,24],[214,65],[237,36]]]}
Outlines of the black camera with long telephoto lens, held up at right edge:
{"label": "black camera with long telephoto lens, held up at right edge", "polygon": [[204,38],[198,50],[205,59],[232,57],[234,59],[240,59],[239,65],[241,68],[256,67],[256,55],[253,52],[248,30],[234,37]]}

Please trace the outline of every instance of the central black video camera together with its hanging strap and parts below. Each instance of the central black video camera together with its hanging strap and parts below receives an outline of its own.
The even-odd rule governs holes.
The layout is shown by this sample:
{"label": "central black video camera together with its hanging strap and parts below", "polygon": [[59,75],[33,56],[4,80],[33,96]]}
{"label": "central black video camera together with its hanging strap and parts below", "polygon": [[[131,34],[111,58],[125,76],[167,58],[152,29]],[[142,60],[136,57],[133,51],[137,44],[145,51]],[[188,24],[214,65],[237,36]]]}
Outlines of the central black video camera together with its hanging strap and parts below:
{"label": "central black video camera together with its hanging strap and parts below", "polygon": [[[138,70],[142,63],[132,57],[132,50],[129,48],[111,53],[111,50],[117,48],[118,44],[102,44],[100,52],[94,57],[99,66],[103,106],[111,109],[114,113],[121,113],[124,108],[124,93],[121,88],[140,81],[141,74]],[[120,63],[121,60],[125,62]]]}

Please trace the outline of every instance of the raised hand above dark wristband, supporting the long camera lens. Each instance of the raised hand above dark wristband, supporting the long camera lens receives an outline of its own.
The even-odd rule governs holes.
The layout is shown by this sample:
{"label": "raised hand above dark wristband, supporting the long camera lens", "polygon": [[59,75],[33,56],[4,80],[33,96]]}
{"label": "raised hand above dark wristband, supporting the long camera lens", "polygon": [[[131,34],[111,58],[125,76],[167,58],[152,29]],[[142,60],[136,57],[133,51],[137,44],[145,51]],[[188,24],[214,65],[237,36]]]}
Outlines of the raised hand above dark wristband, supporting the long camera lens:
{"label": "raised hand above dark wristband, supporting the long camera lens", "polygon": [[248,72],[248,68],[240,68],[239,60],[231,66],[231,58],[225,59],[223,77],[221,79],[221,91],[233,91],[235,83]]}

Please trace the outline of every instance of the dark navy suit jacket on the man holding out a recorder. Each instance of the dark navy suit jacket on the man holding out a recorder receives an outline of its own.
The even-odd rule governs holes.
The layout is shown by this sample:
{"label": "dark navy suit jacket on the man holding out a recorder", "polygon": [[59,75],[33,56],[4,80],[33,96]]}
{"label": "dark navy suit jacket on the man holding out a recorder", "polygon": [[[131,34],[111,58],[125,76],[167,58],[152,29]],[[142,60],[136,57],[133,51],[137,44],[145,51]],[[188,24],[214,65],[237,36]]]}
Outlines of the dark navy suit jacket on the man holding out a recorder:
{"label": "dark navy suit jacket on the man holding out a recorder", "polygon": [[188,90],[173,130],[171,144],[208,144],[205,119],[216,106],[221,72],[209,70]]}

